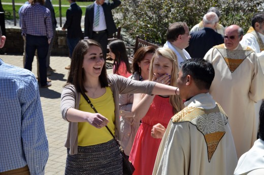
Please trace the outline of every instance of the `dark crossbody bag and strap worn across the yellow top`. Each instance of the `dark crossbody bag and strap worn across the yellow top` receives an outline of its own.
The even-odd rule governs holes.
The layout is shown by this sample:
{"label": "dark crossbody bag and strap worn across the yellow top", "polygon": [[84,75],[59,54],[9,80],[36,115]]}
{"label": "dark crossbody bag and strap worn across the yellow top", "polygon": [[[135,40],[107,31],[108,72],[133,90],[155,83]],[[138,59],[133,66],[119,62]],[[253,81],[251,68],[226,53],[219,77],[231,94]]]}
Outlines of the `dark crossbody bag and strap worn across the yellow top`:
{"label": "dark crossbody bag and strap worn across the yellow top", "polygon": [[[87,101],[87,103],[91,106],[91,108],[94,110],[95,113],[98,113],[97,110],[94,108],[94,106],[92,105],[90,99],[88,98],[88,96],[86,94],[81,93],[82,96],[85,98],[85,100]],[[110,134],[113,136],[113,138],[115,139],[114,134],[110,131],[110,129],[108,128],[108,126],[106,126],[106,129],[110,132]],[[133,164],[128,160],[128,157],[125,155],[124,150],[122,149],[121,145],[119,144],[119,142],[115,139],[119,149],[120,149],[120,153],[122,155],[122,159],[123,159],[123,174],[126,175],[132,175],[133,172],[135,171],[135,167],[133,166]]]}

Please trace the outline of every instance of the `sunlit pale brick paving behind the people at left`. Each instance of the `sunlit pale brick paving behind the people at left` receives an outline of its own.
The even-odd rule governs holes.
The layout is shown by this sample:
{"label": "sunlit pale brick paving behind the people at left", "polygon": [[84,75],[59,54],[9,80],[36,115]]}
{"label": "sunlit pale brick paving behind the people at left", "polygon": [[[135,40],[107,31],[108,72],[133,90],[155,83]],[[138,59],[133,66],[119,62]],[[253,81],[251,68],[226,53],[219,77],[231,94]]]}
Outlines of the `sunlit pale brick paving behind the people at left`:
{"label": "sunlit pale brick paving behind the people at left", "polygon": [[[22,67],[22,55],[0,55],[1,59],[14,66]],[[36,57],[35,57],[36,58]],[[64,141],[67,137],[68,122],[61,118],[60,113],[60,93],[62,86],[68,78],[68,70],[64,67],[70,64],[69,57],[51,56],[50,66],[56,69],[51,76],[52,86],[40,88],[41,104],[44,114],[46,133],[49,141],[49,159],[45,168],[46,175],[64,174],[67,150]],[[32,72],[37,75],[37,62],[34,59]],[[111,74],[111,64],[107,64],[108,74]]]}

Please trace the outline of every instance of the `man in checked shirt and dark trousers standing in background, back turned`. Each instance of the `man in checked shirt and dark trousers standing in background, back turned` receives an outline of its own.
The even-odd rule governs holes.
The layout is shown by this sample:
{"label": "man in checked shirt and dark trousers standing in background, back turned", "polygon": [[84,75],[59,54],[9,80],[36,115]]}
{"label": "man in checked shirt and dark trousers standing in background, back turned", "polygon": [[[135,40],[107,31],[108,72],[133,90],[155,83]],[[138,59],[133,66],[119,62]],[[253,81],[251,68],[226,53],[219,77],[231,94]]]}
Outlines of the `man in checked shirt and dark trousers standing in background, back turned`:
{"label": "man in checked shirt and dark trousers standing in background, back turned", "polygon": [[53,37],[51,13],[44,7],[44,0],[31,0],[22,10],[22,35],[26,38],[26,60],[24,68],[31,71],[35,51],[39,57],[40,83],[42,88],[51,86],[47,82],[47,55]]}

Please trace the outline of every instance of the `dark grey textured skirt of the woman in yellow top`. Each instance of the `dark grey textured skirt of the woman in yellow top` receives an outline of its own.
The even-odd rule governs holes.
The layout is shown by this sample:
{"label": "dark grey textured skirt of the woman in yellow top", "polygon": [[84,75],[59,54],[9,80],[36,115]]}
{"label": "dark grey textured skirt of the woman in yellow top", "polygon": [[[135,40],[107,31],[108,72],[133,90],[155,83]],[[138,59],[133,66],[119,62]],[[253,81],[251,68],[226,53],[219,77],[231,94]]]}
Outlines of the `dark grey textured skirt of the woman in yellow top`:
{"label": "dark grey textured skirt of the woman in yellow top", "polygon": [[67,149],[65,174],[123,174],[122,155],[114,139],[87,147],[78,146],[78,154]]}

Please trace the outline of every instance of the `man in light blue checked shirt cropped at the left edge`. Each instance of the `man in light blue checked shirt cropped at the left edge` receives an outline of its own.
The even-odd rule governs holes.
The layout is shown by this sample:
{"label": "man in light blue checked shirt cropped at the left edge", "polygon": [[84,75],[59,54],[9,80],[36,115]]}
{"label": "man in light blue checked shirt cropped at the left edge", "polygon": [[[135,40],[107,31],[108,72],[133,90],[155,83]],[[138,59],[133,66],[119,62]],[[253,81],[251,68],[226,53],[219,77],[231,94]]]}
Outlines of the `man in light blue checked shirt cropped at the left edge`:
{"label": "man in light blue checked shirt cropped at the left edge", "polygon": [[37,79],[0,59],[0,174],[44,174],[48,157]]}

